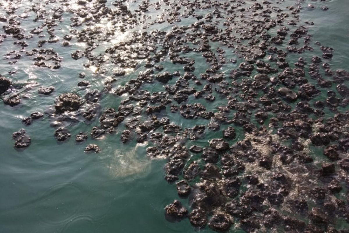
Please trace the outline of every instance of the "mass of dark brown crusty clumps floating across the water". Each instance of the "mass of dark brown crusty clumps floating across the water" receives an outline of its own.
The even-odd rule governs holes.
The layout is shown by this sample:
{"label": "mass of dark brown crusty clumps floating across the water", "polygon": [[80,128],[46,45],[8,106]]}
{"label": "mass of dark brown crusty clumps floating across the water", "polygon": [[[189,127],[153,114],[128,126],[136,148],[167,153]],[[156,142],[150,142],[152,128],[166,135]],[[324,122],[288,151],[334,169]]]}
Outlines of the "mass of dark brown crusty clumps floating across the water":
{"label": "mass of dark brown crusty clumps floating across the water", "polygon": [[[68,4],[60,2],[62,6]],[[344,191],[349,188],[349,111],[338,110],[349,104],[349,72],[331,70],[329,62],[334,50],[319,42],[313,44],[322,51],[322,57],[306,60],[299,55],[296,63],[288,63],[290,53],[315,50],[307,32],[307,25],[313,23],[300,21],[303,0],[285,8],[280,8],[279,3],[285,3],[277,0],[253,4],[243,0],[142,1],[135,10],[128,9],[122,1],[113,2],[112,7],[107,7],[106,2],[76,1],[80,9],[70,9],[75,15],[70,18],[71,27],[76,30],[62,38],[62,46],[70,46],[72,40],[86,43],[84,51],[75,51],[71,57],[87,58],[83,66],[97,67],[97,74],[110,74],[106,64],[118,69],[112,71],[111,79],[104,80],[102,91],[88,90],[83,97],[74,93],[59,95],[49,114],[53,120],[69,120],[72,114],[82,115],[86,121],[99,119],[99,125],[90,133],[76,135],[78,143],[88,136],[99,138],[116,133],[120,124],[126,126],[120,134],[122,143],[147,141],[148,156],[167,159],[165,180],[176,182],[178,195],[187,197],[191,207],[188,211],[179,201],[173,201],[165,207],[169,221],[188,218],[195,228],[208,225],[215,231],[228,231],[233,225],[246,232],[348,232],[336,230],[335,225],[340,221],[349,224],[348,192]],[[149,8],[166,9],[166,14],[155,20],[147,18]],[[316,7],[309,4],[305,8]],[[40,39],[38,48],[25,54],[35,66],[59,69],[59,54],[39,48],[61,40],[55,36],[54,27],[63,20],[64,10],[58,7],[50,13],[39,4],[31,10],[37,14],[36,21],[44,22],[42,25],[24,35],[16,17],[1,16],[0,21],[7,25],[3,26],[6,34],[0,36],[12,36],[24,50],[28,46],[25,40],[34,35],[40,38],[46,28],[50,38]],[[198,10],[211,13],[197,14]],[[16,8],[8,8],[7,13],[15,14]],[[154,24],[172,24],[193,17],[196,22],[191,25],[173,26],[169,31],[147,30]],[[89,27],[105,19],[121,26],[110,30]],[[137,26],[142,27],[141,32],[133,30]],[[269,29],[276,35],[270,35]],[[92,51],[99,43],[110,42],[116,31],[131,32],[124,41],[106,48],[105,53],[94,55]],[[211,48],[212,43],[222,48]],[[281,49],[282,44],[287,44],[286,50]],[[226,60],[228,50],[245,60],[229,74],[220,72],[225,64],[237,63],[237,59]],[[194,75],[195,60],[189,58],[193,53],[201,54],[209,67],[200,77]],[[14,64],[21,51],[7,56]],[[167,58],[173,66],[182,65],[183,71],[163,71],[164,67],[157,63]],[[124,68],[137,68],[142,61],[144,71],[117,86],[126,75]],[[84,73],[79,75],[81,79],[85,77]],[[163,92],[147,90],[153,83],[161,83]],[[89,82],[79,81],[77,85],[88,89]],[[9,79],[0,77],[0,94],[6,96],[3,102],[10,106],[21,101],[13,89]],[[326,89],[327,97],[321,100],[320,91]],[[40,87],[38,92],[50,95],[54,88]],[[99,102],[107,94],[122,98],[118,109],[101,110]],[[207,109],[195,103],[200,98],[214,103],[217,96],[227,99],[227,104]],[[323,117],[324,109],[333,112],[333,117]],[[192,119],[193,124],[195,119],[206,119],[208,124],[183,129],[171,123],[166,110]],[[23,123],[31,124],[42,116],[34,112]],[[148,118],[142,121],[139,116]],[[222,125],[229,127],[220,130]],[[57,128],[54,137],[58,141],[70,138],[64,125],[54,122],[52,126]],[[236,129],[245,133],[244,139],[237,140]],[[187,146],[188,141],[195,144],[209,131],[221,132],[221,137],[209,140],[206,147]],[[18,148],[31,142],[23,129],[13,138]],[[312,154],[309,147],[321,148],[322,154]],[[90,144],[85,151],[98,153],[101,149]]]}

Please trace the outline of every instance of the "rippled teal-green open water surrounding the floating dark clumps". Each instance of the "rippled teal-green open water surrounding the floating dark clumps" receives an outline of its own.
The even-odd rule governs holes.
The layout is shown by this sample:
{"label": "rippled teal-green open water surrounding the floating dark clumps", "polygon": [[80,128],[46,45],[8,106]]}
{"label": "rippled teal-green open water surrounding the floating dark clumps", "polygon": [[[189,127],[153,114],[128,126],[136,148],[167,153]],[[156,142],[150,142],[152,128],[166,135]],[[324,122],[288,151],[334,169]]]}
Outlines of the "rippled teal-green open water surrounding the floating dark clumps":
{"label": "rippled teal-green open water surrounding the floating dark clumps", "polygon": [[[20,3],[21,1],[18,1]],[[33,2],[36,2],[35,0]],[[33,2],[23,1],[18,4],[16,14],[28,9]],[[151,1],[153,2],[153,1]],[[155,1],[154,1],[155,2]],[[246,1],[253,3],[253,1]],[[0,6],[0,15],[5,15],[4,6],[6,1]],[[110,2],[108,1],[108,4]],[[132,9],[138,2],[126,1]],[[281,5],[291,5],[294,1],[284,1]],[[307,4],[317,6],[314,10],[308,10]],[[55,4],[43,6],[49,10]],[[320,10],[320,6],[326,4],[329,7],[327,12]],[[313,21],[314,25],[309,26],[309,34],[313,35],[313,41],[319,41],[325,46],[334,48],[334,58],[329,62],[332,70],[349,70],[349,2],[343,0],[304,1],[300,11],[301,21]],[[205,11],[202,11],[205,12]],[[157,15],[154,9],[150,10],[151,15]],[[56,27],[56,35],[62,37],[69,32],[69,17],[72,14],[65,12],[62,16],[65,20]],[[38,26],[33,22],[34,15],[26,19],[21,19],[21,27],[26,31]],[[189,18],[183,19],[178,25],[187,25],[195,22]],[[0,22],[0,26],[5,23]],[[154,24],[151,29],[170,30],[169,23]],[[59,28],[62,28],[61,30]],[[136,29],[130,29],[136,30]],[[1,32],[3,33],[3,32]],[[119,39],[122,36],[119,36]],[[47,39],[47,38],[46,38]],[[29,41],[28,41],[29,43]],[[61,68],[51,70],[39,68],[32,65],[32,60],[24,54],[17,63],[8,64],[6,53],[18,50],[20,47],[13,44],[13,39],[6,38],[0,45],[0,74],[10,78],[14,82],[22,85],[21,94],[27,94],[29,99],[22,98],[21,104],[15,107],[0,104],[0,232],[195,232],[188,219],[179,223],[170,223],[164,218],[164,207],[171,203],[173,199],[178,199],[174,184],[168,184],[163,176],[165,175],[163,166],[166,160],[149,159],[146,155],[147,144],[136,144],[135,140],[128,144],[122,144],[120,133],[125,129],[121,126],[116,134],[106,135],[101,139],[89,137],[86,142],[77,144],[74,137],[80,131],[89,132],[93,126],[99,124],[98,119],[92,122],[84,122],[82,118],[76,121],[64,122],[72,137],[64,143],[57,143],[53,137],[54,128],[50,127],[52,118],[45,114],[43,118],[35,120],[29,126],[24,126],[21,120],[30,115],[31,112],[47,112],[50,105],[54,103],[55,97],[61,93],[74,92],[81,96],[86,93],[86,89],[77,87],[79,73],[86,73],[86,79],[90,82],[88,89],[103,89],[104,79],[107,74],[98,74],[93,69],[84,68],[82,64],[87,62],[86,58],[77,61],[70,57],[70,53],[76,49],[83,49],[83,44],[75,41],[70,42],[71,46],[62,47],[61,43],[46,44],[43,48],[54,48],[62,57]],[[218,43],[218,42],[217,42]],[[286,44],[281,48],[286,48]],[[30,51],[36,47],[35,43],[29,43],[26,48]],[[108,43],[101,43],[94,53],[104,51]],[[212,48],[217,46],[211,45]],[[314,46],[315,47],[315,46]],[[234,57],[235,54],[226,51],[225,55]],[[307,60],[312,56],[321,57],[321,51],[307,52],[302,54]],[[198,54],[188,53],[187,57],[195,59],[195,72],[199,77],[208,68],[205,60]],[[290,54],[288,59],[294,62],[299,54]],[[237,58],[239,59],[239,58]],[[289,62],[291,64],[291,62]],[[160,64],[164,66],[164,71],[174,72],[181,67],[174,67],[166,57]],[[223,67],[223,71],[229,72],[236,68],[237,64],[228,64]],[[107,64],[107,68],[112,68],[113,64]],[[321,68],[320,68],[321,69]],[[14,75],[9,75],[9,71],[15,70]],[[124,78],[119,78],[117,85],[124,85],[126,81],[135,78],[139,71],[145,70],[143,66],[138,66],[129,71]],[[180,70],[181,72],[183,70]],[[314,83],[315,80],[310,80]],[[169,82],[173,84],[175,80]],[[49,96],[38,94],[40,86],[53,86],[54,92]],[[151,93],[164,91],[161,85],[146,84],[143,89],[148,89]],[[333,86],[335,89],[335,86]],[[216,110],[221,104],[226,104],[227,100],[216,96],[214,103],[208,103],[204,99],[196,100],[203,103],[208,110]],[[319,99],[326,99],[324,91]],[[120,101],[126,96],[105,94],[101,99],[101,107],[117,109]],[[191,96],[188,102],[192,102]],[[338,108],[340,111],[347,109]],[[171,122],[181,125],[182,128],[193,126],[193,124],[207,124],[209,120],[200,119],[193,122],[180,117],[179,113],[166,113]],[[333,113],[328,111],[324,117],[332,117]],[[147,116],[142,115],[144,119]],[[221,130],[227,128],[223,125]],[[32,143],[25,150],[16,150],[13,147],[13,132],[25,128],[31,137]],[[232,145],[244,138],[242,129],[236,129],[237,137],[230,141]],[[221,132],[208,132],[205,138],[195,141],[196,145],[205,146],[211,138],[221,137]],[[191,142],[188,142],[190,146]],[[83,152],[88,144],[97,144],[101,148],[101,153],[86,154]],[[196,156],[196,155],[195,155]],[[194,158],[192,158],[194,160]],[[180,198],[179,198],[180,199]],[[180,201],[189,208],[188,199]],[[347,225],[338,226],[346,228]],[[230,232],[241,231],[237,227],[232,227]],[[200,232],[211,232],[206,227]]]}

